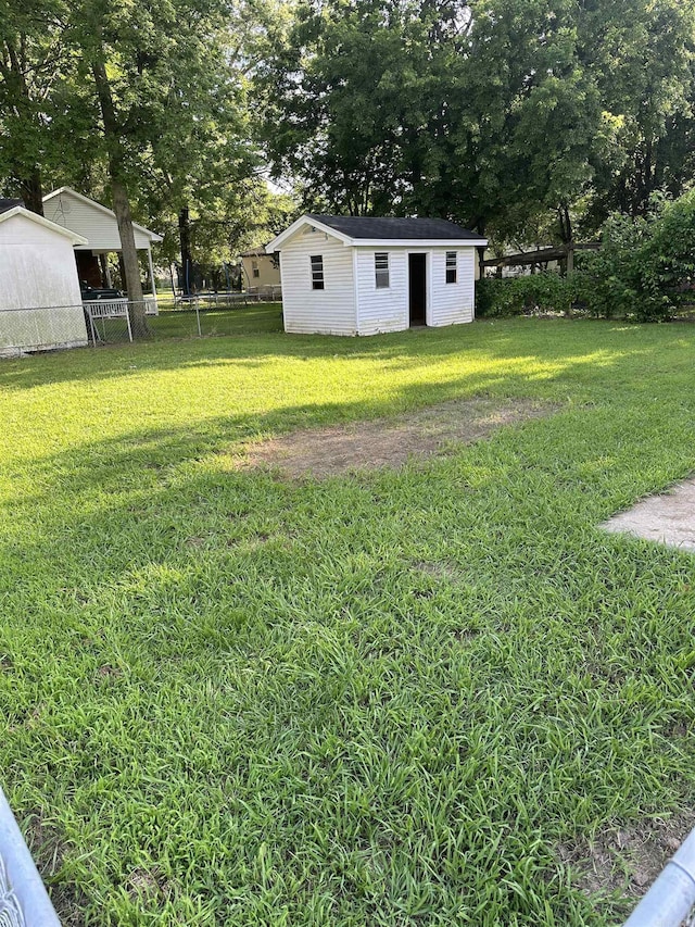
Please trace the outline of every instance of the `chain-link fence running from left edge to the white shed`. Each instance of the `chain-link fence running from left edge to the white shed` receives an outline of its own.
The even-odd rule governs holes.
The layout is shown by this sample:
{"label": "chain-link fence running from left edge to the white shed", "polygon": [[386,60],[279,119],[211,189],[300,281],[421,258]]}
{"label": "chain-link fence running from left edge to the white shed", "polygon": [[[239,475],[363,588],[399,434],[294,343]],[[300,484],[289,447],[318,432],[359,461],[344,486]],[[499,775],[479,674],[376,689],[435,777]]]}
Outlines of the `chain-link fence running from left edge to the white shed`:
{"label": "chain-link fence running from left edge to the white shed", "polygon": [[[61,348],[101,347],[136,340],[205,338],[282,330],[279,293],[205,293],[118,299],[78,305],[2,309],[0,358]],[[275,297],[275,299],[273,299]]]}

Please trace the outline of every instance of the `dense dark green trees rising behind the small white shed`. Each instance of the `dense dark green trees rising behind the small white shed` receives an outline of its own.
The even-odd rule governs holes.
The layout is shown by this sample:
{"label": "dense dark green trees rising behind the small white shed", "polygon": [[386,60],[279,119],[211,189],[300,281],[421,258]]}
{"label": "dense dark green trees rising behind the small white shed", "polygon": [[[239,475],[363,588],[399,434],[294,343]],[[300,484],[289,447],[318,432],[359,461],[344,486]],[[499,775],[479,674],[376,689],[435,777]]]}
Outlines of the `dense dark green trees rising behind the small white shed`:
{"label": "dense dark green trees rising behind the small white shed", "polygon": [[678,0],[306,0],[258,85],[268,156],[307,205],[570,243],[687,181],[692,48]]}

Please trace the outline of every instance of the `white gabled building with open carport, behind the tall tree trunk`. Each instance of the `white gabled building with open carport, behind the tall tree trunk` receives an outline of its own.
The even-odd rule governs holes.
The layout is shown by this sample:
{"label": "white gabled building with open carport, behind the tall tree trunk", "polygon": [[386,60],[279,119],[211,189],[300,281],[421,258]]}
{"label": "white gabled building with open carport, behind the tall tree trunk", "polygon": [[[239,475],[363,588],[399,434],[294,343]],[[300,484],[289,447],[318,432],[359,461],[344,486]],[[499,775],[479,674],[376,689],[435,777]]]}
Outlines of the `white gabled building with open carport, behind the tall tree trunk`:
{"label": "white gabled building with open carport, behind the tall tree trunk", "polygon": [[[80,281],[97,289],[111,287],[111,274],[105,255],[121,253],[121,235],[113,210],[84,197],[71,187],[61,187],[43,197],[43,213],[48,220],[77,233],[85,239],[75,248],[75,261]],[[132,223],[135,247],[148,252],[150,284],[155,296],[152,245],[162,241],[162,236],[142,225]],[[101,259],[101,260],[100,260]]]}

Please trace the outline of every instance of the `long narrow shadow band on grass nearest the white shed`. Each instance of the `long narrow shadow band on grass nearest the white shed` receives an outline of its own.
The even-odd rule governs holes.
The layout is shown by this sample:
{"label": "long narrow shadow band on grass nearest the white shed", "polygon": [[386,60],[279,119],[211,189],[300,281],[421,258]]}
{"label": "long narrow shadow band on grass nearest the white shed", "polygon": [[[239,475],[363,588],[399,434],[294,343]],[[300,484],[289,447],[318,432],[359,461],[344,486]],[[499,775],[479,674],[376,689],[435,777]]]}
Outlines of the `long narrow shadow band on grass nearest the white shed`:
{"label": "long narrow shadow band on grass nearest the white shed", "polygon": [[[182,341],[146,341],[99,350],[77,349],[0,364],[0,389],[25,389],[66,380],[101,380],[129,376],[132,369],[169,371],[215,364],[264,364],[270,360],[374,361],[393,369],[426,366],[468,352],[476,360],[533,358],[540,362],[580,362],[586,333],[596,335],[595,350],[607,358],[649,356],[682,347],[683,335],[656,326],[609,326],[602,322],[507,320],[439,329],[408,330],[354,339],[331,336],[248,334]],[[687,329],[690,335],[691,329]],[[695,335],[693,336],[695,337]],[[590,352],[590,354],[593,352]],[[587,360],[587,363],[591,363]],[[349,375],[349,373],[348,373]]]}

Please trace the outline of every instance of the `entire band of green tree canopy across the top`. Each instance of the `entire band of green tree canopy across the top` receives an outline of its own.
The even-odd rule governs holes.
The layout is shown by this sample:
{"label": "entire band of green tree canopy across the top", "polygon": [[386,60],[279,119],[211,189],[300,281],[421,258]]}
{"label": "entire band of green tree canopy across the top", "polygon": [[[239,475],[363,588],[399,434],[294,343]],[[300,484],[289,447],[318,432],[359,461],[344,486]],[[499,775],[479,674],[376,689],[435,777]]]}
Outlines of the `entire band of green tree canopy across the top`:
{"label": "entire band of green tree canopy across the top", "polygon": [[[695,171],[680,0],[0,0],[0,184],[231,256],[291,205],[571,241]],[[255,240],[254,240],[255,239]],[[202,253],[201,253],[202,256]]]}

